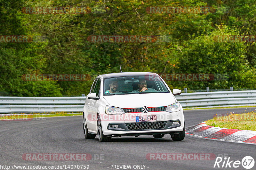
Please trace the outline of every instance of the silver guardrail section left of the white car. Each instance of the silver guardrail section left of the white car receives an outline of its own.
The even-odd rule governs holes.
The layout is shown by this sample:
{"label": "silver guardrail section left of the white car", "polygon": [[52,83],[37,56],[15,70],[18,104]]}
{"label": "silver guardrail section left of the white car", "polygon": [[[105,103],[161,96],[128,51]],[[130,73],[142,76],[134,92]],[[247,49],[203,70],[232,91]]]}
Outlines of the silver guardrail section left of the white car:
{"label": "silver guardrail section left of the white car", "polygon": [[85,98],[0,96],[0,113],[81,112]]}

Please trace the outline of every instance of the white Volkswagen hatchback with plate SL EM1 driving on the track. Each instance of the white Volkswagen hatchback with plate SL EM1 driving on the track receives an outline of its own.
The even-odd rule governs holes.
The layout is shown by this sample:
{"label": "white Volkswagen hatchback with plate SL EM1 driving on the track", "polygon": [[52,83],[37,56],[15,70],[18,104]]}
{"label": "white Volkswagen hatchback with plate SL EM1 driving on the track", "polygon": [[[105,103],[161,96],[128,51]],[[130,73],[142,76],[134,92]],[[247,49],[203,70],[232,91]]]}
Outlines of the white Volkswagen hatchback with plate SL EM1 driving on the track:
{"label": "white Volkswagen hatchback with plate SL EM1 driving on the track", "polygon": [[126,72],[99,75],[93,82],[83,109],[85,138],[101,142],[112,137],[153,135],[183,140],[183,108],[156,73]]}

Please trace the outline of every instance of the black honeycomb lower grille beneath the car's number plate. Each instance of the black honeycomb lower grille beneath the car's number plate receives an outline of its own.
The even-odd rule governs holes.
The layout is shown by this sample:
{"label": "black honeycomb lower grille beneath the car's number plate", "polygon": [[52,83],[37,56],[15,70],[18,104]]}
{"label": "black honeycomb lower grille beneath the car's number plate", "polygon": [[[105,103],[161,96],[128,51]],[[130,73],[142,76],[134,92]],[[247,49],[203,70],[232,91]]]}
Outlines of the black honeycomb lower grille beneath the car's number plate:
{"label": "black honeycomb lower grille beneath the car's number plate", "polygon": [[133,130],[152,130],[164,129],[167,121],[160,122],[138,122],[138,123],[125,123],[130,131]]}

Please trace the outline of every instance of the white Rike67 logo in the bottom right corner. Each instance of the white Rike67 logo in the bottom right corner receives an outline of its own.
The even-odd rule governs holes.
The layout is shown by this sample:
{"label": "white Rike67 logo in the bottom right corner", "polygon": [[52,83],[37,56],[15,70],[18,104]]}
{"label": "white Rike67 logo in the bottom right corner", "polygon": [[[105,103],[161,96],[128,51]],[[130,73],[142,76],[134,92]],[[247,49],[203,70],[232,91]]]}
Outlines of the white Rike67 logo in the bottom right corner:
{"label": "white Rike67 logo in the bottom right corner", "polygon": [[230,160],[230,157],[225,157],[222,159],[221,157],[217,157],[214,163],[214,168],[238,168],[243,166],[245,169],[251,169],[254,166],[254,159],[251,156],[245,156],[242,161],[240,160]]}

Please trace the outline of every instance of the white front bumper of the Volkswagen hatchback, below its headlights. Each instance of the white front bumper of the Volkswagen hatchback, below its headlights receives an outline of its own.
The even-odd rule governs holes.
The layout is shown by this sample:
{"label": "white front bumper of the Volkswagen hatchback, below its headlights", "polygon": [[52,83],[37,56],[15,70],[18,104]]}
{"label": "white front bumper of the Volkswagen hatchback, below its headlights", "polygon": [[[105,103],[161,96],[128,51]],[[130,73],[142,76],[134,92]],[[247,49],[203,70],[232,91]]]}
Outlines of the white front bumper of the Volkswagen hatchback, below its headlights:
{"label": "white front bumper of the Volkswagen hatchback, below its headlights", "polygon": [[[152,122],[136,122],[136,116],[157,116],[157,121]],[[104,135],[113,136],[138,136],[138,135],[149,135],[149,134],[169,134],[178,133],[183,131],[184,127],[184,116],[183,110],[178,112],[148,112],[142,114],[136,113],[125,113],[123,115],[107,115],[101,114],[102,131]],[[128,119],[127,119],[128,118]],[[179,121],[180,124],[172,125],[172,122]],[[161,126],[151,126],[151,124],[162,124]],[[144,125],[137,126],[138,124],[147,124],[146,128]],[[117,124],[118,128],[109,128],[109,125]],[[138,128],[134,128],[138,127]],[[144,127],[144,128],[140,128]],[[153,128],[150,128],[153,127]]]}

